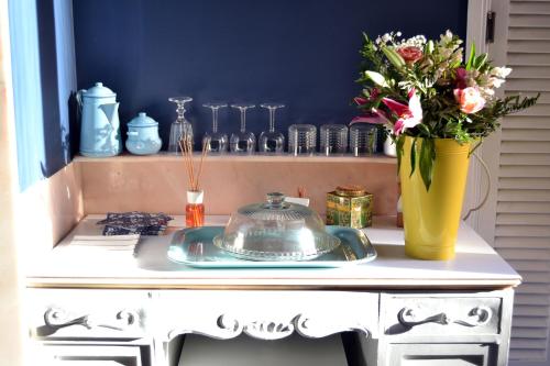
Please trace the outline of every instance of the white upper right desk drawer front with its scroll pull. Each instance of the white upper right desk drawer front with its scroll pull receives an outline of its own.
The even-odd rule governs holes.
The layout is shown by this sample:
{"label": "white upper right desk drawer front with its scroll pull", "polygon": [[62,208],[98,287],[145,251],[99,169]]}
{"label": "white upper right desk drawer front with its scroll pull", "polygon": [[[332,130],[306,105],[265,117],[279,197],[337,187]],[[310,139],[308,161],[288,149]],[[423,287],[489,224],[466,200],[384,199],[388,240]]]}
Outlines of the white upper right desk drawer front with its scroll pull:
{"label": "white upper right desk drawer front with its scroll pull", "polygon": [[498,334],[502,298],[454,295],[383,295],[384,334]]}

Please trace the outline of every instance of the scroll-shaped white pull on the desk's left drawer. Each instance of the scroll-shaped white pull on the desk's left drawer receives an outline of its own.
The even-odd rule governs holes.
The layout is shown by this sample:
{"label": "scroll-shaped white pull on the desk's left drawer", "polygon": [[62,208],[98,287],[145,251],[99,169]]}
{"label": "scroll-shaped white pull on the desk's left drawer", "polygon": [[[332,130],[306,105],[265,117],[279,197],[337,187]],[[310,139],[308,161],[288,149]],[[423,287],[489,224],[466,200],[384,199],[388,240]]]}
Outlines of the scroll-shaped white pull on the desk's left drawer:
{"label": "scroll-shaped white pull on the desk's left drawer", "polygon": [[139,319],[138,317],[139,315],[135,311],[124,309],[117,313],[116,324],[109,324],[108,322],[100,321],[97,317],[92,317],[90,314],[73,318],[69,312],[61,308],[48,308],[46,312],[44,312],[44,323],[55,330],[72,325],[81,325],[90,330],[100,326],[116,331],[123,331],[128,326],[134,324]]}

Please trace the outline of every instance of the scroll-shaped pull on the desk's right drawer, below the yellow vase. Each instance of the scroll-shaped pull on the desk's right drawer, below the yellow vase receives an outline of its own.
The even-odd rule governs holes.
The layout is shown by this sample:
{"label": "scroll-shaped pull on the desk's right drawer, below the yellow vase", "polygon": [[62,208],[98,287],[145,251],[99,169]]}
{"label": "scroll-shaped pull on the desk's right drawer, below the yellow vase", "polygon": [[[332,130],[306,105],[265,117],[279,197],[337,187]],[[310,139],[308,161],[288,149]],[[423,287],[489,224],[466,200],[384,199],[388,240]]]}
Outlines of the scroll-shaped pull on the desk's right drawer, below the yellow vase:
{"label": "scroll-shaped pull on the desk's right drawer, below the yellow vase", "polygon": [[441,325],[448,325],[450,323],[460,324],[463,326],[480,326],[487,324],[493,315],[493,312],[487,307],[475,307],[468,312],[466,319],[451,319],[444,312],[435,314],[425,319],[419,320],[411,308],[403,308],[397,314],[397,320],[405,328],[413,328],[426,323],[436,323]]}

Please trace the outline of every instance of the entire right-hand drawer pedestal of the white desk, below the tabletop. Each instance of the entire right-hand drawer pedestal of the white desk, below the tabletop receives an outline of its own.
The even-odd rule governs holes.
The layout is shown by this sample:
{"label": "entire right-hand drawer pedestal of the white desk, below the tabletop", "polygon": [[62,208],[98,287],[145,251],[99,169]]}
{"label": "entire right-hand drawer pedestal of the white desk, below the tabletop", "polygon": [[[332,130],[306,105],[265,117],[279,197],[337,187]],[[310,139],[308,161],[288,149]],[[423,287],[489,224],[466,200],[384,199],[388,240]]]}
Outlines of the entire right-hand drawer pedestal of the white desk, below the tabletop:
{"label": "entire right-hand drawer pedestal of the white desk, below the tabletop", "polygon": [[[460,304],[464,304],[461,307]],[[381,295],[384,336],[378,341],[378,365],[507,365],[513,291],[384,292]],[[462,322],[471,306],[472,318]],[[399,309],[413,309],[403,319]],[[396,314],[397,312],[397,314]],[[404,326],[410,325],[410,326]],[[465,325],[465,324],[470,325]],[[465,328],[470,326],[469,330]],[[485,351],[481,352],[484,348]],[[483,357],[469,357],[484,355]],[[444,362],[443,362],[444,361]],[[468,365],[468,363],[465,364]]]}

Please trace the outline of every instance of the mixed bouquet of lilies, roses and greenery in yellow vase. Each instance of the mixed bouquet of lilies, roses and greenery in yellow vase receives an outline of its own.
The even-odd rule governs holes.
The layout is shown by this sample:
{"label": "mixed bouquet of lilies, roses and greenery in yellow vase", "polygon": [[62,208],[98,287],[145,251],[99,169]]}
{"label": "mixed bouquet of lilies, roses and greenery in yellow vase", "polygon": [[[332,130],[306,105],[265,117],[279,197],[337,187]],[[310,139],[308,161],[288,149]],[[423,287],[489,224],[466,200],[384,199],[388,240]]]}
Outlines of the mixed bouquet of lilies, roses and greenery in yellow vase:
{"label": "mixed bouquet of lilies, roses and greenery in yellow vase", "polygon": [[[493,66],[487,54],[475,53],[475,46],[465,58],[462,40],[450,31],[439,40],[402,38],[400,32],[374,41],[363,36],[363,64],[356,80],[363,89],[354,98],[362,113],[352,123],[385,124],[396,142],[399,165],[403,136],[415,137],[411,171],[418,162],[427,189],[437,158],[435,138],[481,142],[499,127],[502,117],[529,108],[539,98],[498,98],[495,89],[512,69]],[[422,138],[419,152],[416,138]]]}

